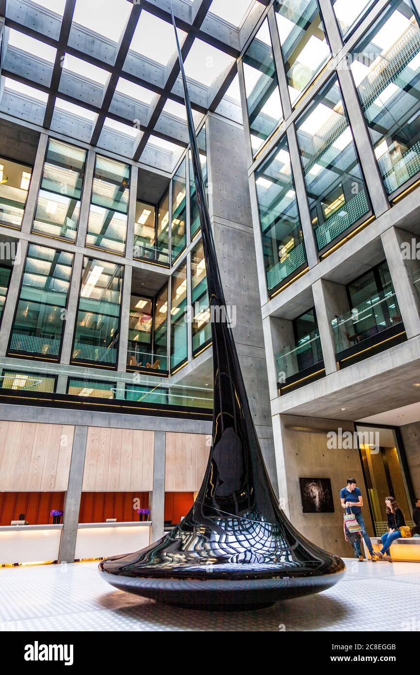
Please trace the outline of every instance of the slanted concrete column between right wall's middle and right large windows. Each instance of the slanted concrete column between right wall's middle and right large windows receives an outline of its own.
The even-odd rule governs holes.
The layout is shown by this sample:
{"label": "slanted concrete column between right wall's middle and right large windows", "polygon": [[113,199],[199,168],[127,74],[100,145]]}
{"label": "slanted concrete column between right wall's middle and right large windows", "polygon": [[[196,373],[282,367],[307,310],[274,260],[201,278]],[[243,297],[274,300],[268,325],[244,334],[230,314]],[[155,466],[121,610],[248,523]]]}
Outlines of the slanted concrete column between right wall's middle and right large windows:
{"label": "slanted concrete column between right wall's middle and right large windows", "polygon": [[359,97],[353,76],[347,66],[347,61],[341,62],[342,68],[338,68],[338,82],[342,91],[342,97],[347,109],[353,137],[359,153],[363,175],[369,192],[373,213],[376,217],[390,209],[390,202],[386,196],[384,183],[380,173],[378,161],[373,151],[373,145],[367,128],[365,115],[361,109]]}

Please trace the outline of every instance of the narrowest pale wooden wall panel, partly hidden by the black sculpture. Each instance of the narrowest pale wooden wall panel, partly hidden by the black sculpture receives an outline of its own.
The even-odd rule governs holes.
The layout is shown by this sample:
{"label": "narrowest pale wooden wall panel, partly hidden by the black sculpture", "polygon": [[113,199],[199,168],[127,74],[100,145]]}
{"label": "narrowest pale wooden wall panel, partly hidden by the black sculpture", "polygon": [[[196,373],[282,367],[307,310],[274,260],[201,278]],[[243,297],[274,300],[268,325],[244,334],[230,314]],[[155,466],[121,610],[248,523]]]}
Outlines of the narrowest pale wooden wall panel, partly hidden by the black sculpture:
{"label": "narrowest pale wooden wall panel, partly hidden by the black sculpture", "polygon": [[167,432],[166,492],[197,492],[206,470],[210,447],[206,435]]}

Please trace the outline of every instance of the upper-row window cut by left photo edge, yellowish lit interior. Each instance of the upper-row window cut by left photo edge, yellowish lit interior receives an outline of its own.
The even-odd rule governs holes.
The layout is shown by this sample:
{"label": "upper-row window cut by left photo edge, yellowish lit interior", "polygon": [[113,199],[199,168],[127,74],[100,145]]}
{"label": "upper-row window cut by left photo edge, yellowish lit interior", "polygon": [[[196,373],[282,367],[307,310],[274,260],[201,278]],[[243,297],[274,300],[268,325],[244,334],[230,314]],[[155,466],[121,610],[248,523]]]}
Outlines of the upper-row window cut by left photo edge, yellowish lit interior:
{"label": "upper-row window cut by left photo edge, yellowish lit interior", "polygon": [[0,157],[0,225],[20,229],[32,167]]}

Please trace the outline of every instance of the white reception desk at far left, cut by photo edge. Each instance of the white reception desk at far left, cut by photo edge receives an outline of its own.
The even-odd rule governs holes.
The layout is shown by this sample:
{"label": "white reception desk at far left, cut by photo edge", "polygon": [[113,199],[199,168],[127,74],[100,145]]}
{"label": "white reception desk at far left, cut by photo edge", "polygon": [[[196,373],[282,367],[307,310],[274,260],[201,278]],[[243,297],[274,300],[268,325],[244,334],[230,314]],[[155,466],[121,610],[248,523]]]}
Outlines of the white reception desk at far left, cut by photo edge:
{"label": "white reception desk at far left, cut by photo edge", "polygon": [[0,565],[58,560],[62,529],[61,524],[1,526]]}

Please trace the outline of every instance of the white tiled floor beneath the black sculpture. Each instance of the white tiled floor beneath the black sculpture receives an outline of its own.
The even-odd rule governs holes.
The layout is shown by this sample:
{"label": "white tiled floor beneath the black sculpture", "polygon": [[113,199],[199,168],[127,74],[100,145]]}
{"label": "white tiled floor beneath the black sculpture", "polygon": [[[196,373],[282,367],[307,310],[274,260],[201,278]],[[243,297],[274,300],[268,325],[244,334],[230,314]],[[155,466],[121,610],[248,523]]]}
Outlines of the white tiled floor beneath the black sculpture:
{"label": "white tiled floor beneath the black sculpture", "polygon": [[258,612],[200,612],[117,591],[96,563],[0,569],[0,630],[420,630],[420,564],[347,560],[328,591]]}

